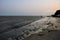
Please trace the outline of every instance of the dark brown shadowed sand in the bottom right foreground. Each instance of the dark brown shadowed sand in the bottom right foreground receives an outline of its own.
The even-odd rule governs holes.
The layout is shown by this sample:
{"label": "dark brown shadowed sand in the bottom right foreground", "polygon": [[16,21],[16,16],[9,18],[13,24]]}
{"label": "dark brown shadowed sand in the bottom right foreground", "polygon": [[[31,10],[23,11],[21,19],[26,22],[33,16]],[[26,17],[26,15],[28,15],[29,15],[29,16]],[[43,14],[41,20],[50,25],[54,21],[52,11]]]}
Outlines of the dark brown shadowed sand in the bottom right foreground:
{"label": "dark brown shadowed sand in the bottom right foreground", "polygon": [[60,40],[60,30],[53,30],[42,34],[32,34],[24,40]]}

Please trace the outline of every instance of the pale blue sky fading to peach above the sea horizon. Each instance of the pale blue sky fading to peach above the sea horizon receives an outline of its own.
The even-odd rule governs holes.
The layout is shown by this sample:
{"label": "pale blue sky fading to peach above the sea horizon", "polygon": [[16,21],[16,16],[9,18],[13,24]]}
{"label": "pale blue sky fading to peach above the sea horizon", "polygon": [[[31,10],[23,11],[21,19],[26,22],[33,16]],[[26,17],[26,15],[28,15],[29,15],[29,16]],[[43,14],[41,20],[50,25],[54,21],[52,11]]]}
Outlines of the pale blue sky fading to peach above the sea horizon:
{"label": "pale blue sky fading to peach above the sea horizon", "polygon": [[60,9],[60,0],[0,0],[1,15],[51,15]]}

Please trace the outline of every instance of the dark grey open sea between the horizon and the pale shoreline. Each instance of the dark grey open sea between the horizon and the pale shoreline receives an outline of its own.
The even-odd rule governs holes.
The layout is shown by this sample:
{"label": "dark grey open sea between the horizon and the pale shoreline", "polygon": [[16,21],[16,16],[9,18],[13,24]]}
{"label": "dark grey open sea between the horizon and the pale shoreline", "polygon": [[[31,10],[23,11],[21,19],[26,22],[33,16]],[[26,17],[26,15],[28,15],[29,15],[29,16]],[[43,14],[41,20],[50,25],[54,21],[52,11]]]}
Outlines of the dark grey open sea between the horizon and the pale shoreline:
{"label": "dark grey open sea between the horizon and the pale shoreline", "polygon": [[22,27],[40,18],[40,16],[0,16],[0,32]]}

